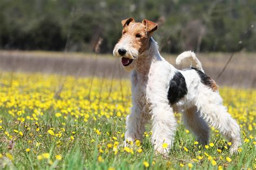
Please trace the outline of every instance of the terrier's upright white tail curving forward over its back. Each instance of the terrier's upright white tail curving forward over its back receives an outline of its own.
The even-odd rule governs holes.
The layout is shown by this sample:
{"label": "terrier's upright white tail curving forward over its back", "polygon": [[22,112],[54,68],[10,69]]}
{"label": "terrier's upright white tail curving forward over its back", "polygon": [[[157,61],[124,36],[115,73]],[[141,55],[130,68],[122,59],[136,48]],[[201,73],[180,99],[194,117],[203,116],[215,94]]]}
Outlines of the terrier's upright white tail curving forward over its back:
{"label": "terrier's upright white tail curving forward over its back", "polygon": [[196,57],[196,54],[192,51],[185,51],[181,53],[177,58],[176,58],[176,64],[181,64],[184,62],[184,60],[190,60],[191,67],[194,67],[202,72],[204,72],[203,67],[201,65],[201,62],[199,59]]}

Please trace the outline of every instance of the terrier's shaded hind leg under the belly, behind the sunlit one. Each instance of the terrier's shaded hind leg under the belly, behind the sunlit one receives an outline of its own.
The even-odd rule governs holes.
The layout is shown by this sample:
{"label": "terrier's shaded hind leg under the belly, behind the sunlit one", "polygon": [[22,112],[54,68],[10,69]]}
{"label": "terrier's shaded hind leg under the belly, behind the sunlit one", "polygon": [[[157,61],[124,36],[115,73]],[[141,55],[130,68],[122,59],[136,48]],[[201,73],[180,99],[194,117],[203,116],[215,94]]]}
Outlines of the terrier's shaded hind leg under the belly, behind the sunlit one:
{"label": "terrier's shaded hind leg under the belly, behind the sunlit one", "polygon": [[209,126],[205,120],[200,117],[197,107],[192,107],[183,112],[183,120],[185,126],[196,135],[200,144],[206,145],[209,139]]}

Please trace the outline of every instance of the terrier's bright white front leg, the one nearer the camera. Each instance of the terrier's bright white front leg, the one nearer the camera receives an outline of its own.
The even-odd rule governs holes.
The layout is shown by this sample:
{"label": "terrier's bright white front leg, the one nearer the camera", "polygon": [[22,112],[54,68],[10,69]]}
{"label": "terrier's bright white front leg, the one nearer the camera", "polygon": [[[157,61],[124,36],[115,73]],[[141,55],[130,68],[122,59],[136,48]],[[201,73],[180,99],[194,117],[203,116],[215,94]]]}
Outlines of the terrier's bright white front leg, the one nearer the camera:
{"label": "terrier's bright white front leg, the one nearer the camera", "polygon": [[173,144],[176,131],[172,108],[167,104],[153,106],[152,120],[152,144],[156,152],[166,155]]}

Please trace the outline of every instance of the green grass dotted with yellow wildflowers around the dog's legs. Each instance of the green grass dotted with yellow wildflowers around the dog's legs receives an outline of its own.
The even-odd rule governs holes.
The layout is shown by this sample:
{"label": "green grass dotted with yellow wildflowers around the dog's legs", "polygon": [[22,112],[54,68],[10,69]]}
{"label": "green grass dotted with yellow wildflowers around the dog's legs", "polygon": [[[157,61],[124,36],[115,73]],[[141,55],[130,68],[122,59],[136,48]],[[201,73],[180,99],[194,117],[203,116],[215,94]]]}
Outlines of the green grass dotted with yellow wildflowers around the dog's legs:
{"label": "green grass dotted with yellow wildflowers around the dog's legs", "polygon": [[162,157],[153,151],[150,125],[143,141],[122,145],[131,106],[129,80],[3,72],[0,85],[0,169],[256,167],[255,89],[220,89],[241,127],[237,154],[230,155],[232,144],[213,127],[210,144],[197,144],[177,113],[173,148]]}

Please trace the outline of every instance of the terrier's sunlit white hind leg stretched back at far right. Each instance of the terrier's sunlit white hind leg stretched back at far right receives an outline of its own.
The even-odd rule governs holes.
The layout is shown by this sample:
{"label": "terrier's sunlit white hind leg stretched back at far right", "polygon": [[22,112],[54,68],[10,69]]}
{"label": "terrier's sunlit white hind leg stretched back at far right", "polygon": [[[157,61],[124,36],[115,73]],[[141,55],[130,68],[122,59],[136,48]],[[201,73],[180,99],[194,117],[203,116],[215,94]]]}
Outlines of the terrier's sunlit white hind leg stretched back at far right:
{"label": "terrier's sunlit white hind leg stretched back at far right", "polygon": [[197,107],[201,116],[210,125],[217,128],[228,140],[232,142],[230,152],[237,152],[241,145],[240,127],[223,106],[222,99],[217,92],[199,94]]}

